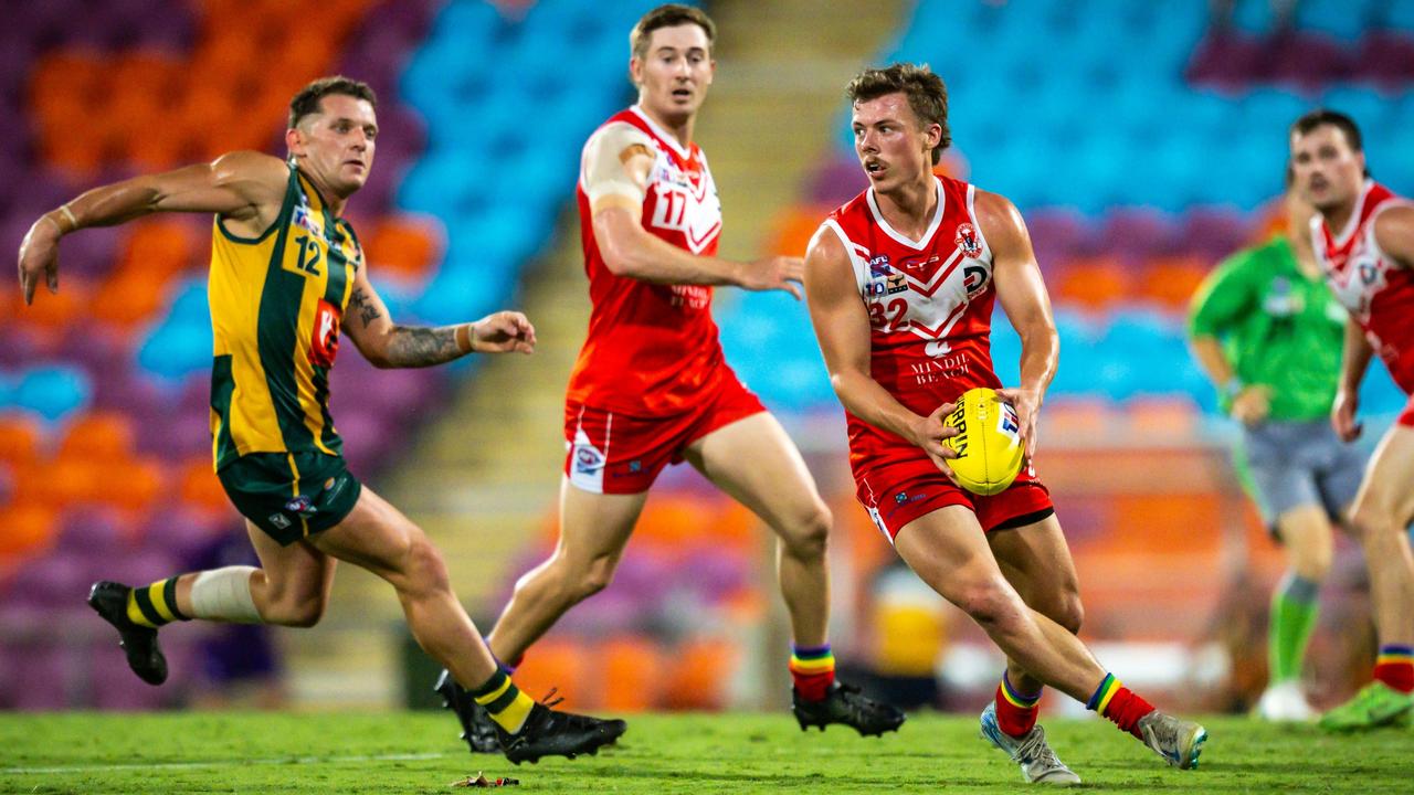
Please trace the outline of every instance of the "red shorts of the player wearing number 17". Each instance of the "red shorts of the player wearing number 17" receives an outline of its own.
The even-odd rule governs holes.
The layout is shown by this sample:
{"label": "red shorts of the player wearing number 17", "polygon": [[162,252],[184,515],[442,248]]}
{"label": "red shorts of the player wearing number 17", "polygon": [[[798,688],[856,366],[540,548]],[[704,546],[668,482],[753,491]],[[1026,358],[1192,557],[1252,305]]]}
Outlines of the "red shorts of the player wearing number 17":
{"label": "red shorts of the player wearing number 17", "polygon": [[683,461],[689,444],[765,410],[730,372],[697,407],[680,414],[632,416],[570,400],[564,405],[564,474],[594,494],[641,494],[663,467]]}

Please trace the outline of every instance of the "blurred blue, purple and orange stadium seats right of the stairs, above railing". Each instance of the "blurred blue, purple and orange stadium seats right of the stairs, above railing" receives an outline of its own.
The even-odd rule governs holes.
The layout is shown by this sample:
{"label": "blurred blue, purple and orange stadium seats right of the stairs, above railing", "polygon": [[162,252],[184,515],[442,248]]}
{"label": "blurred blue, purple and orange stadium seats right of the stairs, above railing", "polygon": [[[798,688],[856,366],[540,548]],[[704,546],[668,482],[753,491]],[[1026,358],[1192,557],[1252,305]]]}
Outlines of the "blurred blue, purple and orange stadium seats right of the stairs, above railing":
{"label": "blurred blue, purple and orange stadium seats right of the stairs, above railing", "polygon": [[[1379,177],[1414,185],[1414,58],[1400,58],[1414,48],[1414,6],[1302,0],[1285,24],[1273,6],[1239,0],[1225,21],[1184,0],[921,0],[880,57],[930,64],[947,81],[954,144],[943,167],[1017,202],[1052,300],[1090,327],[1076,338],[1060,325],[1052,395],[1120,410],[1154,396],[1215,407],[1181,318],[1216,262],[1271,233],[1285,132],[1302,112],[1350,113]],[[824,214],[864,188],[843,113],[840,130],[800,205],[782,214],[776,250],[799,255]],[[1164,320],[1133,325],[1154,313]],[[803,307],[724,296],[718,317],[728,359],[768,405],[833,403]],[[998,375],[1015,378],[1018,345],[1000,310],[993,344]],[[1401,396],[1377,369],[1363,405],[1394,412]]]}

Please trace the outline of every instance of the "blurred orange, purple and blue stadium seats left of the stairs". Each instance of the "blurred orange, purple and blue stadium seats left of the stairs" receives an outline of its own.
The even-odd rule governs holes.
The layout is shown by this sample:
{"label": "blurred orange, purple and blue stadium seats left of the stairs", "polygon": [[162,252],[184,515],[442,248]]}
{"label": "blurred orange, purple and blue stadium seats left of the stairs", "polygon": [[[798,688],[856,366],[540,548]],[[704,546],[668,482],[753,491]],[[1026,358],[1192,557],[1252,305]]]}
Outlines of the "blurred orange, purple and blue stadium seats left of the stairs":
{"label": "blurred orange, purple and blue stadium seats left of the stairs", "polygon": [[[578,143],[622,102],[622,30],[649,4],[25,4],[0,31],[0,177],[25,187],[0,197],[0,232],[13,250],[40,212],[99,181],[233,149],[280,151],[288,98],[338,71],[379,95],[376,168],[349,208],[379,291],[400,318],[479,317],[513,303],[573,191]],[[546,51],[573,55],[577,68],[564,72]],[[502,199],[510,184],[513,202]],[[182,550],[214,523],[235,528],[211,472],[208,224],[163,216],[85,231],[64,242],[58,296],[41,290],[28,308],[13,290],[0,297],[6,638],[31,615],[25,598],[72,604],[100,574],[180,570]],[[338,427],[363,477],[436,413],[451,378],[370,375],[345,354],[332,376]],[[86,608],[65,627],[72,632],[34,655],[14,651],[18,668],[7,655],[24,644],[0,644],[0,672],[14,673],[0,683],[0,706],[160,703],[113,702],[102,680],[81,686],[86,638],[107,635]],[[168,655],[187,654],[180,638]],[[72,676],[25,700],[35,666]]]}

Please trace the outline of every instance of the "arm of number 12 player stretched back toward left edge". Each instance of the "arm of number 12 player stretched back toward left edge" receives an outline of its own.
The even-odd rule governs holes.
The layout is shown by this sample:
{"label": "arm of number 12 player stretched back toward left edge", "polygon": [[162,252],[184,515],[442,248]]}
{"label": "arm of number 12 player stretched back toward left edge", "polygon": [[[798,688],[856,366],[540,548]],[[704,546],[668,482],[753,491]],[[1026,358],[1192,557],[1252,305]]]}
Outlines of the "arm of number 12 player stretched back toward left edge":
{"label": "arm of number 12 player stretched back toward left edge", "polygon": [[256,151],[233,151],[199,166],[147,174],[93,188],[41,215],[20,243],[24,303],[44,276],[59,289],[59,238],[85,226],[113,226],[153,212],[215,212],[257,235],[280,212],[288,170]]}

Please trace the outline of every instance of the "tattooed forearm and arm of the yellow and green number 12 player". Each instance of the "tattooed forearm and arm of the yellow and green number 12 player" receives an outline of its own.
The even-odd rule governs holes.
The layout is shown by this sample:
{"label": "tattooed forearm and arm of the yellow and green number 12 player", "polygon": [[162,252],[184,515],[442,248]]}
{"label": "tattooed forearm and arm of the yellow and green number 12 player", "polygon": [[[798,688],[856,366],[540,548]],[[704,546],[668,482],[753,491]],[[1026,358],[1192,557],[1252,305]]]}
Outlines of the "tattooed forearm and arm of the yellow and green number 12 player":
{"label": "tattooed forearm and arm of the yellow and green number 12 player", "polygon": [[534,327],[526,315],[499,311],[475,323],[455,325],[400,325],[368,279],[368,267],[354,277],[354,293],[344,313],[344,332],[373,366],[426,368],[460,359],[471,352],[534,352]]}

